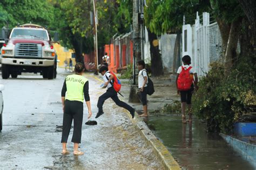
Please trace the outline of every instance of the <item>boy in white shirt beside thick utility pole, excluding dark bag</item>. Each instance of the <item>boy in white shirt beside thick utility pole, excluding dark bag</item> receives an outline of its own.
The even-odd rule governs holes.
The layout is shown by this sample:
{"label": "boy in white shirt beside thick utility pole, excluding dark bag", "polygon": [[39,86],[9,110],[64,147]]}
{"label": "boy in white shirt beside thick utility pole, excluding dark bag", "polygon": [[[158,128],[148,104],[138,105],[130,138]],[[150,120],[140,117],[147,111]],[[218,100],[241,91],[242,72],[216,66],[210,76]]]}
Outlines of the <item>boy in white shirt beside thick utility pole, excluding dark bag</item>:
{"label": "boy in white shirt beside thick utility pole, excluding dark bag", "polygon": [[139,115],[140,117],[147,117],[147,83],[149,82],[149,77],[147,76],[147,70],[145,69],[144,60],[140,60],[137,63],[139,75],[138,75],[138,86],[140,93],[140,100],[143,105],[143,114]]}

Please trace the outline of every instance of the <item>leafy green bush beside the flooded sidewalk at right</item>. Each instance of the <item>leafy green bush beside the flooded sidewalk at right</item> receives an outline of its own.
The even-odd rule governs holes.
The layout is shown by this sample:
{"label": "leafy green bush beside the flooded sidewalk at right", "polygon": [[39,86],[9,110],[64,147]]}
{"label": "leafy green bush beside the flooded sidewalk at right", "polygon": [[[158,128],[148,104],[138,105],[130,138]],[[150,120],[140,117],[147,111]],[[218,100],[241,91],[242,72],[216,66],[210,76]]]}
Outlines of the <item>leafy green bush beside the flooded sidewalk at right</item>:
{"label": "leafy green bush beside the flooded sidewalk at right", "polygon": [[193,95],[192,113],[207,123],[209,132],[231,133],[241,115],[256,106],[255,57],[240,57],[228,76],[224,65],[211,64]]}

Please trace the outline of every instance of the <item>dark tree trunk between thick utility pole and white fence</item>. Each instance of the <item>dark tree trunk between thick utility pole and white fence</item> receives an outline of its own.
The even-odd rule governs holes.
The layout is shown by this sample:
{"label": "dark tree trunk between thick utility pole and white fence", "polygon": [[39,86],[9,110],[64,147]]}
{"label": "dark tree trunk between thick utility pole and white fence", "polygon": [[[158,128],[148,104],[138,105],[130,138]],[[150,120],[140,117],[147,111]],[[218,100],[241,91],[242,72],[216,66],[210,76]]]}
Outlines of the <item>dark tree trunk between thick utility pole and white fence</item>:
{"label": "dark tree trunk between thick utility pole and white fence", "polygon": [[159,45],[153,44],[153,40],[157,40],[157,35],[147,30],[150,41],[150,56],[151,56],[151,70],[152,76],[161,76],[164,74],[163,63],[160,55]]}

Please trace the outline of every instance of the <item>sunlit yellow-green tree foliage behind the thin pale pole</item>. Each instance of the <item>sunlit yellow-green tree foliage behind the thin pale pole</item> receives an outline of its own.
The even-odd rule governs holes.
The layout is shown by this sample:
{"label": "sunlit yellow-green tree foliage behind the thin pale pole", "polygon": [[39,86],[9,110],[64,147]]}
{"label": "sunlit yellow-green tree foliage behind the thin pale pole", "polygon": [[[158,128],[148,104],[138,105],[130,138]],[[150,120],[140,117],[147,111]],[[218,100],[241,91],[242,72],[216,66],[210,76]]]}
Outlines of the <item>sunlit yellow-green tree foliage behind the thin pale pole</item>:
{"label": "sunlit yellow-green tree foliage behind the thin pale pole", "polygon": [[[129,2],[98,1],[98,47],[108,44],[115,33],[124,33],[131,23]],[[49,0],[55,7],[56,21],[53,27],[59,30],[62,44],[74,49],[77,61],[82,53],[93,51],[93,26],[90,25],[92,1]],[[125,8],[127,6],[127,8]],[[127,18],[127,19],[126,19]]]}

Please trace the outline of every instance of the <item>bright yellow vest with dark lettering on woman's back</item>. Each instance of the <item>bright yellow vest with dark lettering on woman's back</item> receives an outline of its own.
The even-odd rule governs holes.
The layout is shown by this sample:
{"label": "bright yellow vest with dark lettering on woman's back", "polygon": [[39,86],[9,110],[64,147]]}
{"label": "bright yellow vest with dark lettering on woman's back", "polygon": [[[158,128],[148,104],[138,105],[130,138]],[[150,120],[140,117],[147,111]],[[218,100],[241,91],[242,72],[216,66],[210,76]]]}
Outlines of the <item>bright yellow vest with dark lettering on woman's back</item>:
{"label": "bright yellow vest with dark lettering on woman's back", "polygon": [[66,77],[67,100],[84,102],[84,84],[88,81],[85,77],[73,74]]}

